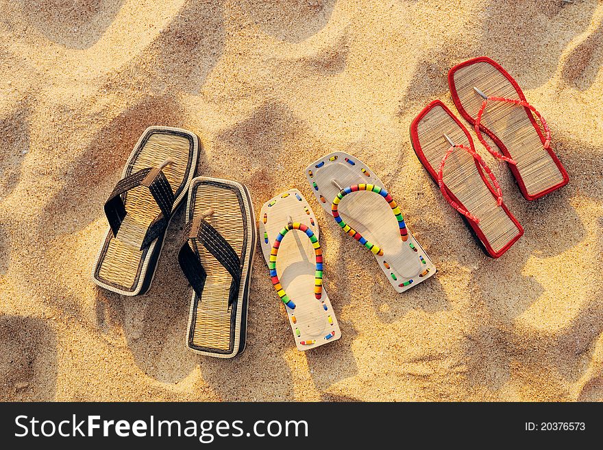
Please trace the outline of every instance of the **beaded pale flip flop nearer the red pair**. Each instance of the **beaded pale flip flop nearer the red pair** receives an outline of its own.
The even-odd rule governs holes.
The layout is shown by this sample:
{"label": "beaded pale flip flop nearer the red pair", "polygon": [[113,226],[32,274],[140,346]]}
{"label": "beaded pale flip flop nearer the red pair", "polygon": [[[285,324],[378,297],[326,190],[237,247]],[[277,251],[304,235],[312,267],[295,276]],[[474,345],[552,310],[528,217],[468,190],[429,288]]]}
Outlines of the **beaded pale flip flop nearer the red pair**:
{"label": "beaded pale flip flop nearer the red pair", "polygon": [[334,152],[306,167],[306,178],[323,209],[345,233],[375,255],[397,292],[436,273],[406,227],[395,200],[365,163],[350,154]]}

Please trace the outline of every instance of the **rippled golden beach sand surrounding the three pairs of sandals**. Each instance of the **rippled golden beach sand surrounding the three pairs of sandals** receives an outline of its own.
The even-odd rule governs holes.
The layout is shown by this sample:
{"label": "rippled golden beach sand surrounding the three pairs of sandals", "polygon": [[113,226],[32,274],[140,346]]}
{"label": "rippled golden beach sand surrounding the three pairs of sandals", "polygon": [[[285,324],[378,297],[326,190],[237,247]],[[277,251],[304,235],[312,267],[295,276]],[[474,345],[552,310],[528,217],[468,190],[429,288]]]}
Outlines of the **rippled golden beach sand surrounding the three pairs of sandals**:
{"label": "rippled golden beach sand surrounding the three pairs of sandals", "polygon": [[[591,401],[603,399],[603,3],[0,1],[0,399]],[[567,187],[526,202],[478,151],[526,229],[484,256],[410,146],[447,71],[500,62],[553,132]],[[258,248],[247,349],[184,344],[184,214],[148,294],[90,281],[103,202],[150,125],[202,142],[198,174],[245,183],[256,211],[291,187],[321,226],[343,337],[302,353]],[[396,294],[341,233],[304,167],[343,150],[402,206],[439,268]]]}

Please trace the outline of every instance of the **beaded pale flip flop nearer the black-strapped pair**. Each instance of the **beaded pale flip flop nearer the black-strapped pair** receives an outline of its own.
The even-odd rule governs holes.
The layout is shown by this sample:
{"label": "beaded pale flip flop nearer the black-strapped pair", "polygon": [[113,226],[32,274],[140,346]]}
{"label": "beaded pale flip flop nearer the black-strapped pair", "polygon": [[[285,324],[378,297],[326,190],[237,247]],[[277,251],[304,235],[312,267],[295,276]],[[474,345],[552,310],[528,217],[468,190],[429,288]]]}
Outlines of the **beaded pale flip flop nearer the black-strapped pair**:
{"label": "beaded pale flip flop nearer the black-strapped pair", "polygon": [[341,337],[322,283],[323,255],[319,234],[316,216],[297,189],[289,189],[262,206],[262,252],[300,351]]}

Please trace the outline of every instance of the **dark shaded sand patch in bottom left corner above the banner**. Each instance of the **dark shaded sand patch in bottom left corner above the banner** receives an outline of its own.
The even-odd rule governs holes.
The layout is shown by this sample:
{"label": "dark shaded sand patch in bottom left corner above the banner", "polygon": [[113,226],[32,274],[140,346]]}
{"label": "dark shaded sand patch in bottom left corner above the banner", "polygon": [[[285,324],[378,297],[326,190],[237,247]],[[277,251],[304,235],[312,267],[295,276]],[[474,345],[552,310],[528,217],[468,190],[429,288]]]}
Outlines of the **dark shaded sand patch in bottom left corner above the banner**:
{"label": "dark shaded sand patch in bottom left corner above the banner", "polygon": [[53,401],[56,337],[44,320],[0,316],[0,401]]}

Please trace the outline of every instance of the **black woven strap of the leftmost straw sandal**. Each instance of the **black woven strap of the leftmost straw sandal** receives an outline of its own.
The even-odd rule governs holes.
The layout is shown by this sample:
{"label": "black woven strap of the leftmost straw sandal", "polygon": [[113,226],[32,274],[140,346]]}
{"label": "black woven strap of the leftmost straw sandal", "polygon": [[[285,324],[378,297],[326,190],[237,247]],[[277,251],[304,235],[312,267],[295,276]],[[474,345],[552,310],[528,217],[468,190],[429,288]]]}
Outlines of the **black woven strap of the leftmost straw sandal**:
{"label": "black woven strap of the leftmost straw sandal", "polygon": [[148,187],[161,210],[161,213],[149,225],[149,229],[143,239],[143,244],[140,245],[140,250],[143,250],[164,233],[172,214],[175,198],[162,167],[148,167],[119,180],[105,202],[105,215],[109,221],[113,236],[117,235],[119,227],[127,215],[123,204],[123,193],[137,186]]}

